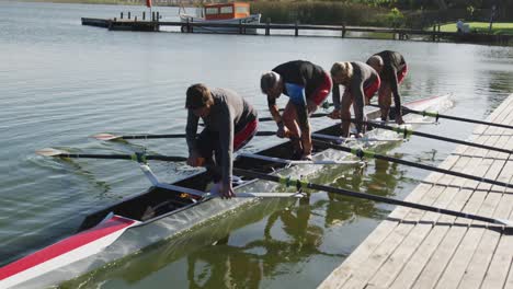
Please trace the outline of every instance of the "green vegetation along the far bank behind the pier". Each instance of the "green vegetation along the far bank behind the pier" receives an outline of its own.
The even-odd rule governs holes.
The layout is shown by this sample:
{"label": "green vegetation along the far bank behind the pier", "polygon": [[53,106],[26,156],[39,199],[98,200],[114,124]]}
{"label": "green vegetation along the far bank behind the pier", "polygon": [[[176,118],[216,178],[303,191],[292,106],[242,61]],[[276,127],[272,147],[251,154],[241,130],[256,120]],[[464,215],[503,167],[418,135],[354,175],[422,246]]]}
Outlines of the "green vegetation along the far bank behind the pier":
{"label": "green vegetation along the far bank behind the pier", "polygon": [[[29,0],[30,1],[30,0]],[[34,0],[68,3],[145,4],[145,0]],[[231,1],[231,0],[230,0]],[[240,0],[237,0],[240,1]],[[244,1],[244,0],[242,0]],[[152,0],[155,7],[202,5],[229,0]],[[332,24],[426,28],[436,23],[488,23],[490,18],[513,22],[511,0],[259,0],[251,3],[252,13],[262,22]],[[486,25],[485,25],[486,26]],[[444,27],[456,31],[453,26]],[[476,31],[488,32],[476,24]],[[506,30],[508,28],[501,28]]]}

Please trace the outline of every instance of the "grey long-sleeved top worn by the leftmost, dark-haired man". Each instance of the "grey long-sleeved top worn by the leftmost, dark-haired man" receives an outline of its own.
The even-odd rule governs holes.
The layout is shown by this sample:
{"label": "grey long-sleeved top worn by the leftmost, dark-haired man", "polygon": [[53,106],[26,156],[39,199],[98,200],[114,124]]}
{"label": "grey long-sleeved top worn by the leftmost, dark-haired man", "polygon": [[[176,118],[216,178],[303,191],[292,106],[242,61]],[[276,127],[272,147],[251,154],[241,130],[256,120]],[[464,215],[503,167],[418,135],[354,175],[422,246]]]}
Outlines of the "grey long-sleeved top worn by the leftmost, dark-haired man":
{"label": "grey long-sleeved top worn by the leftmost, dark-haired man", "polygon": [[[250,122],[256,119],[256,112],[242,96],[231,90],[213,89],[214,105],[210,113],[203,117],[205,129],[219,134],[219,148],[221,152],[223,183],[231,182],[233,135],[240,131]],[[185,127],[189,152],[196,148],[196,132],[200,117],[192,109],[187,112]]]}

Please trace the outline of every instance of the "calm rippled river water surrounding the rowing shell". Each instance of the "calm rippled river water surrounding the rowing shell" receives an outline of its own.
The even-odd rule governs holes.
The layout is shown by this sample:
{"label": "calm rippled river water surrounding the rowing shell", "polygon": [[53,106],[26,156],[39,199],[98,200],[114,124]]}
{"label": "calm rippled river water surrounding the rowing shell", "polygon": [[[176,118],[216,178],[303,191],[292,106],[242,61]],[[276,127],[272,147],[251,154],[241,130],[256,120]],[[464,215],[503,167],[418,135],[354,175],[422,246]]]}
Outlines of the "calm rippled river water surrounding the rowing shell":
{"label": "calm rippled river water surrounding the rowing shell", "polygon": [[[513,49],[465,44],[335,37],[109,32],[80,18],[114,18],[144,7],[0,2],[0,265],[77,230],[88,213],[149,183],[136,163],[58,161],[37,157],[54,147],[83,153],[149,152],[186,155],[183,140],[101,143],[98,132],[183,132],[184,93],[204,82],[229,88],[266,115],[262,72],[307,59],[365,60],[401,51],[409,74],[406,101],[452,93],[446,113],[486,118],[513,92]],[[178,9],[153,8],[163,20]],[[283,104],[282,100],[282,104]],[[274,129],[264,125],[263,130]],[[423,131],[466,139],[472,126],[443,122]],[[262,149],[274,138],[253,141]],[[411,139],[389,153],[436,165],[455,148]],[[172,182],[192,173],[151,164]],[[383,162],[364,171],[327,173],[326,184],[404,198],[426,172]],[[319,285],[394,209],[311,194],[206,223],[64,287],[77,288],[311,288]]]}

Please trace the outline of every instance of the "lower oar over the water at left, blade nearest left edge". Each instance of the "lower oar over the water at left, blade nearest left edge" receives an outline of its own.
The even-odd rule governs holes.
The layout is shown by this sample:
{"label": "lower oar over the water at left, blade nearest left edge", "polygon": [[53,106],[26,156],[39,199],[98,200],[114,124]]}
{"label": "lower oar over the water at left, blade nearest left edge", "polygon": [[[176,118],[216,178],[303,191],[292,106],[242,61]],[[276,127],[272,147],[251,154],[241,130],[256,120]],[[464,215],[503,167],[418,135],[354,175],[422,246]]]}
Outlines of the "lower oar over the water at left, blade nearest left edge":
{"label": "lower oar over the water at left, blade nearest left edge", "polygon": [[43,157],[58,157],[58,158],[71,158],[71,159],[109,159],[109,160],[132,160],[138,162],[146,162],[147,160],[153,161],[166,161],[166,162],[183,162],[186,161],[185,157],[174,155],[151,155],[144,153],[134,154],[90,154],[90,153],[69,153],[64,150],[57,150],[53,148],[46,148],[36,151],[37,154]]}

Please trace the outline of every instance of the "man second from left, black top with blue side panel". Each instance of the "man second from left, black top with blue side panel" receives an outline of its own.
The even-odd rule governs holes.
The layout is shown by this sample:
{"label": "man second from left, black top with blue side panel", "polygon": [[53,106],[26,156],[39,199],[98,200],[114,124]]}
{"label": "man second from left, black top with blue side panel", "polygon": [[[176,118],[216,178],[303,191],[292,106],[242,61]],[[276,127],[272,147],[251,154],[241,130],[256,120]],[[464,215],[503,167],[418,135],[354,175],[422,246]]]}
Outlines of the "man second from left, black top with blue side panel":
{"label": "man second from left, black top with blue side panel", "polygon": [[[267,95],[269,111],[278,127],[276,135],[290,138],[294,147],[293,159],[311,160],[308,115],[326,100],[331,86],[328,72],[309,61],[285,62],[262,74],[260,88],[262,93]],[[281,115],[276,99],[282,93],[287,95],[289,101]]]}

